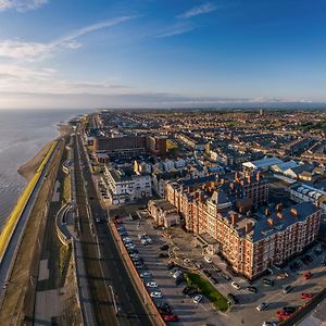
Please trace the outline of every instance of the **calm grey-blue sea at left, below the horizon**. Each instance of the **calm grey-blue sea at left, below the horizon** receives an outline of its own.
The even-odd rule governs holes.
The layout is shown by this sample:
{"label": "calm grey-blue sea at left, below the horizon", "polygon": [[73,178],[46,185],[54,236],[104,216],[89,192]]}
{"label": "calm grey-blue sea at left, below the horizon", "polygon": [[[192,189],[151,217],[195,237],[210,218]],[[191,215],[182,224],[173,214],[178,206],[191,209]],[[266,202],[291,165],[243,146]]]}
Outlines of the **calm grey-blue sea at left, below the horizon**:
{"label": "calm grey-blue sea at left, below the horizon", "polygon": [[17,168],[59,136],[59,123],[83,113],[86,111],[0,110],[0,230],[26,186]]}

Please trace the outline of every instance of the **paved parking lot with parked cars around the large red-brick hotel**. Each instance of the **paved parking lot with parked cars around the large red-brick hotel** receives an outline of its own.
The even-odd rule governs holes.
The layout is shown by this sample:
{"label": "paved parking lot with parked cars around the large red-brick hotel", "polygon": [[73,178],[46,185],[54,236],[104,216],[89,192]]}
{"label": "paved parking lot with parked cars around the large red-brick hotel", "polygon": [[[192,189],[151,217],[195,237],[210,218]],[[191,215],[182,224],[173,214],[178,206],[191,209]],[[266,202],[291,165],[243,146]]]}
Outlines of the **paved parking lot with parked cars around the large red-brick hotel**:
{"label": "paved parking lot with parked cars around the large red-brick hotel", "polygon": [[[151,277],[145,281],[154,281],[156,288],[148,288],[151,291],[161,291],[163,298],[154,299],[156,302],[167,302],[173,308],[173,312],[179,318],[179,325],[263,325],[264,322],[277,322],[276,312],[281,311],[284,306],[299,308],[308,299],[302,299],[302,293],[314,294],[326,286],[326,271],[322,265],[325,252],[315,254],[313,249],[310,255],[313,261],[309,264],[302,263],[300,258],[300,269],[291,271],[289,266],[283,269],[272,269],[272,275],[266,278],[274,281],[274,286],[266,286],[262,278],[249,284],[242,277],[234,276],[227,271],[227,265],[217,255],[211,255],[212,262],[206,262],[203,258],[201,248],[192,246],[191,234],[187,234],[180,228],[163,231],[152,227],[151,218],[124,220],[123,223],[128,237],[136,246],[139,256],[151,273]],[[142,244],[138,235],[146,234],[150,237],[152,243]],[[163,237],[163,235],[165,237]],[[162,251],[160,247],[168,243],[168,250]],[[216,312],[208,299],[196,304],[192,298],[183,293],[186,284],[176,286],[175,279],[167,271],[168,258],[159,258],[162,253],[176,261],[179,265],[188,269],[197,271],[214,284],[216,289],[225,297],[233,293],[239,300],[239,304],[233,304],[230,311],[225,314]],[[289,265],[291,265],[290,263]],[[293,269],[293,268],[292,268]],[[310,279],[303,279],[303,275],[311,272]],[[287,273],[288,277],[280,279],[278,275]],[[286,275],[284,275],[286,276]],[[228,279],[229,278],[229,279]],[[233,283],[239,285],[239,289],[233,286]],[[284,293],[283,289],[291,285],[292,289]],[[249,291],[248,287],[254,287],[256,293]],[[264,311],[258,311],[256,306],[262,302],[268,304]]]}

